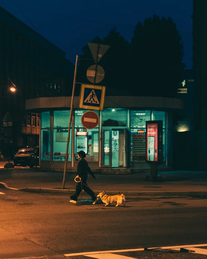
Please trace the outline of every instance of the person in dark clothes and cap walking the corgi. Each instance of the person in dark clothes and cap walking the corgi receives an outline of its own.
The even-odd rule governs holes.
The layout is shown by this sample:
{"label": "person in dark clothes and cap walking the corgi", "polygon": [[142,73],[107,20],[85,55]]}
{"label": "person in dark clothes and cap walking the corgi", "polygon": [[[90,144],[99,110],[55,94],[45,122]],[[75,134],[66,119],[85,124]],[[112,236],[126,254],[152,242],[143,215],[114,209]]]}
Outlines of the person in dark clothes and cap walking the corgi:
{"label": "person in dark clothes and cap walking the corgi", "polygon": [[88,195],[91,196],[93,200],[93,204],[95,204],[98,200],[98,198],[95,196],[94,192],[88,187],[88,184],[86,183],[88,178],[88,173],[90,173],[94,179],[96,179],[96,176],[92,173],[90,170],[90,167],[88,166],[88,162],[84,159],[86,157],[85,152],[83,150],[77,152],[78,159],[80,159],[78,165],[77,165],[77,175],[81,178],[81,181],[77,183],[75,194],[70,196],[70,201],[72,203],[77,203],[77,198],[82,191],[82,189],[88,193]]}

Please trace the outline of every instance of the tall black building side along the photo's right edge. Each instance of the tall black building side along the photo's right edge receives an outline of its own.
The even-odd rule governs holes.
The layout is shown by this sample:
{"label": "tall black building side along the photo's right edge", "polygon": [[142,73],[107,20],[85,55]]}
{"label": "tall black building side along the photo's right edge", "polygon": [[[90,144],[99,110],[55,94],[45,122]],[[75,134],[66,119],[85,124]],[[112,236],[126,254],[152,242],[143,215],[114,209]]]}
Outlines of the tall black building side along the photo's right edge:
{"label": "tall black building side along the photo's right edge", "polygon": [[195,128],[189,134],[194,161],[189,163],[196,170],[206,171],[207,161],[207,1],[193,1],[193,70],[195,75]]}

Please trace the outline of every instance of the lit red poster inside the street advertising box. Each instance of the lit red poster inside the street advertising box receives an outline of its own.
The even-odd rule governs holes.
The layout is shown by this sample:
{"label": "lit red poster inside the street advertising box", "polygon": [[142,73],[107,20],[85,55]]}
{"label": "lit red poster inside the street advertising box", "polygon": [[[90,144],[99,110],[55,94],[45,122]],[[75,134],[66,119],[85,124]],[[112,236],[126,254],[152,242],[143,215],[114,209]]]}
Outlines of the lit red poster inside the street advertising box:
{"label": "lit red poster inside the street advertising box", "polygon": [[147,123],[147,161],[157,162],[158,123]]}

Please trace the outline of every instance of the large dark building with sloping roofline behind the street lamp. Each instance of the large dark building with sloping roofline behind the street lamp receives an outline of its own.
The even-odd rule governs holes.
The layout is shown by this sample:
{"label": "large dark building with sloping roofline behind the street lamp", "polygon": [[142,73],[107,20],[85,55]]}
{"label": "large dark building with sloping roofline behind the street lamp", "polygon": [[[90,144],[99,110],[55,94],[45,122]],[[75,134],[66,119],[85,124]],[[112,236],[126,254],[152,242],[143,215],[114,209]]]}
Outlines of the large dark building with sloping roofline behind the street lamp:
{"label": "large dark building with sloping roofline behind the street lamp", "polygon": [[[64,95],[69,66],[65,52],[0,7],[0,121],[4,156],[8,155],[8,144],[12,149],[39,143],[39,115],[26,113],[25,100]],[[9,91],[12,83],[15,92]],[[6,114],[12,120],[9,129],[2,122]]]}

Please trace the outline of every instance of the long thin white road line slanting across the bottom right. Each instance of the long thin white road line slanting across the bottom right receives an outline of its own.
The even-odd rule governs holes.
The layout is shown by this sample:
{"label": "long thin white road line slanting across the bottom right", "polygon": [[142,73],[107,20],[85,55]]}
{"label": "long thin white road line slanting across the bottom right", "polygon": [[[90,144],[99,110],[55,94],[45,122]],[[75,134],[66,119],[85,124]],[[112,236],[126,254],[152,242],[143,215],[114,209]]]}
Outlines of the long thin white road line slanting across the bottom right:
{"label": "long thin white road line slanting across the bottom right", "polygon": [[[166,246],[166,247],[160,247],[160,249],[173,249],[173,248],[176,249],[176,248],[181,248],[181,247],[182,248],[188,248],[188,247],[200,247],[200,246],[207,246],[207,244],[189,244],[189,245]],[[148,247],[148,248],[154,249],[154,248],[157,248],[157,247]],[[73,253],[73,254],[65,254],[65,256],[95,255],[95,254],[107,254],[107,253],[118,253],[118,252],[131,252],[131,251],[144,251],[144,248]]]}

